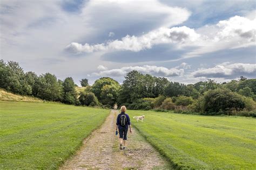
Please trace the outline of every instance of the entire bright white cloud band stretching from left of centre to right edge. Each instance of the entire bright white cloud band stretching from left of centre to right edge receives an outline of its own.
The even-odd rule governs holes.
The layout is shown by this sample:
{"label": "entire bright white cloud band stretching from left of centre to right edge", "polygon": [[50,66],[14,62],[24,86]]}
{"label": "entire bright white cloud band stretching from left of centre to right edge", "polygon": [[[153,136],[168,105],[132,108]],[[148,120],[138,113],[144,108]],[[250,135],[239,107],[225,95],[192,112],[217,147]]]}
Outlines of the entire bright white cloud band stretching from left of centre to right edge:
{"label": "entire bright white cloud band stretching from left of centre to right edge", "polygon": [[206,25],[198,30],[186,26],[160,27],[142,36],[127,35],[102,44],[79,44],[72,42],[66,50],[75,54],[93,52],[131,51],[140,52],[161,44],[172,44],[176,49],[194,46],[198,49],[186,52],[181,58],[191,58],[205,53],[239,47],[255,46],[256,19],[234,16],[215,25]]}

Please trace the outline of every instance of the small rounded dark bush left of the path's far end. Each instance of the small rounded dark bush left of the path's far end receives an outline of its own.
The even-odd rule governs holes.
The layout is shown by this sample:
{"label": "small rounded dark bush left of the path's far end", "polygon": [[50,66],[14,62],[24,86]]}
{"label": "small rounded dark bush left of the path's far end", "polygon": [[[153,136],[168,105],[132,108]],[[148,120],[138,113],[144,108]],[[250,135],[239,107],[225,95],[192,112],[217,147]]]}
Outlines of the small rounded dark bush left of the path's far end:
{"label": "small rounded dark bush left of the path's far end", "polygon": [[92,92],[82,92],[79,96],[79,102],[81,105],[96,106],[99,105],[98,99]]}

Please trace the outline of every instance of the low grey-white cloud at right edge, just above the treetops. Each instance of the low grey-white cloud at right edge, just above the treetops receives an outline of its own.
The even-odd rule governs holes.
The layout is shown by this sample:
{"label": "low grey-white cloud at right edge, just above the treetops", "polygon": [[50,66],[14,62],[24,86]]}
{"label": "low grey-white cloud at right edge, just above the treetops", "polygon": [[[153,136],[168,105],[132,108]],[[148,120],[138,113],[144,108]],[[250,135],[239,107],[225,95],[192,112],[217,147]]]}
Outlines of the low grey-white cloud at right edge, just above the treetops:
{"label": "low grey-white cloud at right edge, just above the treetops", "polygon": [[235,77],[245,74],[256,74],[256,64],[250,63],[221,63],[212,68],[200,68],[191,73],[193,77]]}

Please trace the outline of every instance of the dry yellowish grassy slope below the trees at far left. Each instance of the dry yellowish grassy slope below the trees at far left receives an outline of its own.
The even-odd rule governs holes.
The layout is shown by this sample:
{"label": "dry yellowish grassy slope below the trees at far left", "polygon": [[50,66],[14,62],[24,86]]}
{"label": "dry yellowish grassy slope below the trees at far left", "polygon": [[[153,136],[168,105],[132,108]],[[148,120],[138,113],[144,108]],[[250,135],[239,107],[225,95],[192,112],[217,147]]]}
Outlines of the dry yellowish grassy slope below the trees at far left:
{"label": "dry yellowish grassy slope below the trees at far left", "polygon": [[39,98],[16,95],[1,88],[0,88],[0,101],[43,102],[43,100]]}

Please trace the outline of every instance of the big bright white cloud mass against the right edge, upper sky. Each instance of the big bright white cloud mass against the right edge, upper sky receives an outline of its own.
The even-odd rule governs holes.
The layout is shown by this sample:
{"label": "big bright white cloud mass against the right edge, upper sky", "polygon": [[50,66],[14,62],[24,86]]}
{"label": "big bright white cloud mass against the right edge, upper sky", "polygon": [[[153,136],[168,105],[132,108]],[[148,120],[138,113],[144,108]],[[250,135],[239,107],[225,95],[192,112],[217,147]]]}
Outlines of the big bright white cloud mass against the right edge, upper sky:
{"label": "big bright white cloud mass against the right edge, upper sky", "polygon": [[186,53],[183,58],[223,49],[255,46],[256,19],[234,16],[216,25],[205,25],[196,31],[201,36],[196,41],[198,48]]}

